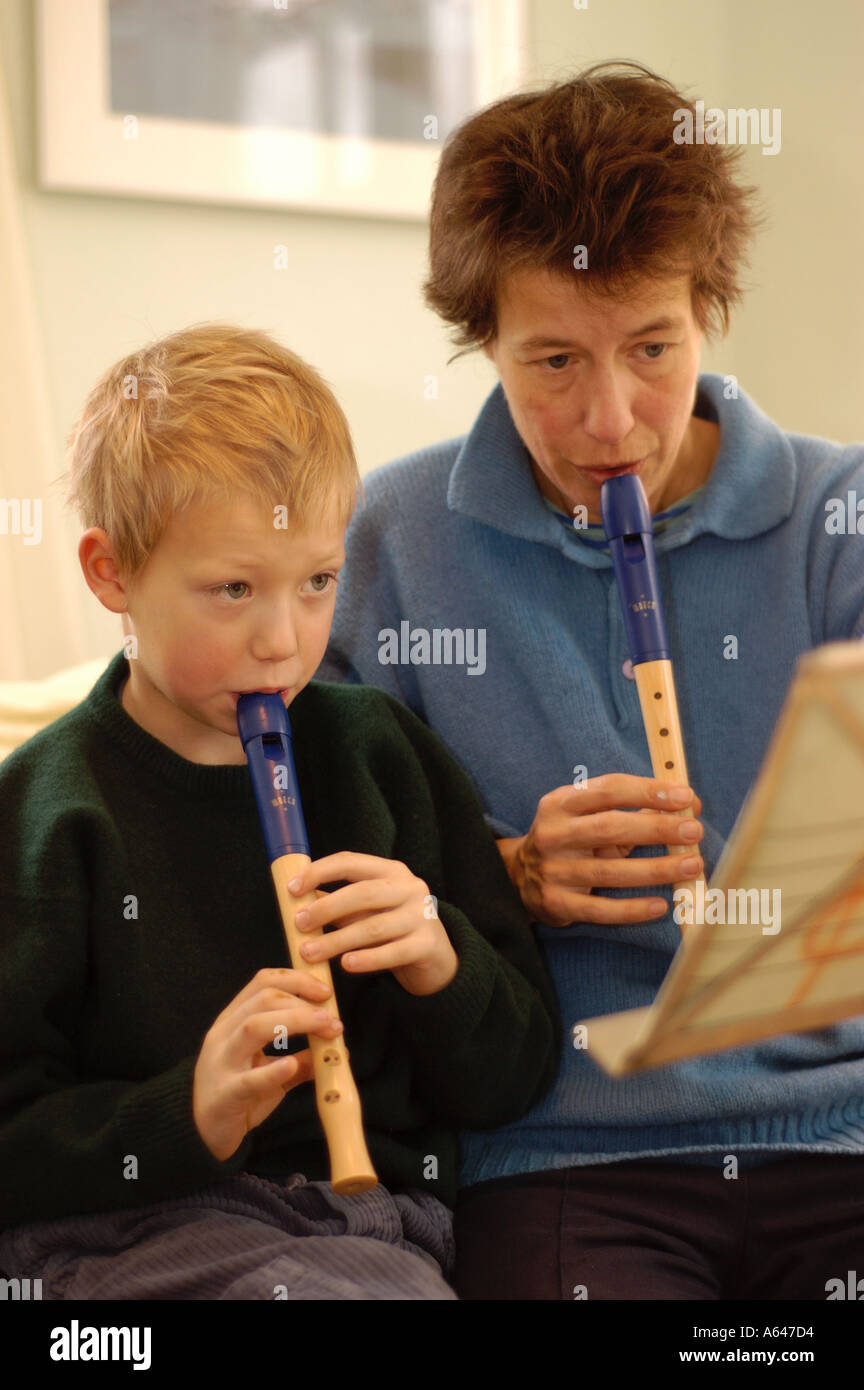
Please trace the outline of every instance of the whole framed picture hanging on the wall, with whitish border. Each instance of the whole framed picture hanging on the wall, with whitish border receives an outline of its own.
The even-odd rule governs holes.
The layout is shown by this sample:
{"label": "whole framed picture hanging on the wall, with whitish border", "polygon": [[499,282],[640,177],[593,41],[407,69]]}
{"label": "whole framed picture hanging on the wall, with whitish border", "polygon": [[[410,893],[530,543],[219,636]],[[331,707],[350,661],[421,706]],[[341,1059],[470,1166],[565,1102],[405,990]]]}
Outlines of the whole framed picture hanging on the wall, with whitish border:
{"label": "whole framed picture hanging on the wall, with whitish border", "polygon": [[46,190],[424,218],[525,0],[38,0]]}

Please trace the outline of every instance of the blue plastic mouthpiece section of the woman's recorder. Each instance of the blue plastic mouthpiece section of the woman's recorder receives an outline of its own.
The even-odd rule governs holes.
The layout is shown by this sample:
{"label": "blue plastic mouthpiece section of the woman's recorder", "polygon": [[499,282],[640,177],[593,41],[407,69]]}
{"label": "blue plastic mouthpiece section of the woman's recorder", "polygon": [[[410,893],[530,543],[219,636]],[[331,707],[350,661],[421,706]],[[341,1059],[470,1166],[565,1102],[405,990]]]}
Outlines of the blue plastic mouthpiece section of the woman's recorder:
{"label": "blue plastic mouthpiece section of the woman's recorder", "polygon": [[600,488],[603,530],[615,566],[618,596],[633,666],[668,662],[654,562],[654,528],[642,478],[632,473],[607,478]]}

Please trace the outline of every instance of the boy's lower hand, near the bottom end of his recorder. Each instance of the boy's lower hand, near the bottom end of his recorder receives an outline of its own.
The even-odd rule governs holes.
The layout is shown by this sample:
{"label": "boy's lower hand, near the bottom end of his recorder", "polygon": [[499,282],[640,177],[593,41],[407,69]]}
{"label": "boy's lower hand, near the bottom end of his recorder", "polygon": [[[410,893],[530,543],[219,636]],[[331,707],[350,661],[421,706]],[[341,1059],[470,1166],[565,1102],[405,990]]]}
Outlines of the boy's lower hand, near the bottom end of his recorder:
{"label": "boy's lower hand, near the bottom end of his recorder", "polygon": [[308,1048],[265,1056],[268,1042],[297,1033],[331,1040],[342,1023],[321,1005],[331,990],[306,970],[258,970],[206,1034],[194,1065],[192,1115],[214,1158],[225,1161],[286,1091],[311,1080]]}

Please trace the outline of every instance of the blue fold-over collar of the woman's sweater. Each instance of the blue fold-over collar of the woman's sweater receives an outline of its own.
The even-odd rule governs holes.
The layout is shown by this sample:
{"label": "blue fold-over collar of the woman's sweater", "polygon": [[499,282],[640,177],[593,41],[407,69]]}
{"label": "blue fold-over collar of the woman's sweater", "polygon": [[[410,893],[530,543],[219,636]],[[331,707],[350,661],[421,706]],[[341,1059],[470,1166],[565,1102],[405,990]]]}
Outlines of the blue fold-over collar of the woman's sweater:
{"label": "blue fold-over collar of the woman's sweater", "polygon": [[[720,424],[720,449],[681,524],[656,538],[657,552],[704,532],[745,541],[792,513],[797,464],[789,438],[740,388],[728,400],[726,381],[717,373],[699,375],[693,414]],[[592,569],[611,567],[608,550],[592,550],[545,506],[500,382],[456,456],[447,506],[496,531],[550,545]]]}

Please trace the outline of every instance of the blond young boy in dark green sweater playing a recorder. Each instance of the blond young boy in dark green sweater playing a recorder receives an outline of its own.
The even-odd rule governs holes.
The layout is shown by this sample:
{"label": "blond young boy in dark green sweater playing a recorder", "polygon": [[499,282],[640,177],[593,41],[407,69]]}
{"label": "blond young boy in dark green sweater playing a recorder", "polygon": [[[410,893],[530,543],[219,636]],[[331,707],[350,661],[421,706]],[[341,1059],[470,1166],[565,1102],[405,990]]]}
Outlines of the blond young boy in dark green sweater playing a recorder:
{"label": "blond young boy in dark green sweater playing a recorder", "polygon": [[[454,1131],[553,1081],[554,991],[474,787],[399,701],[313,680],[357,484],[318,374],[218,324],[113,367],[71,438],[125,652],[0,766],[0,1272],[43,1298],[454,1298]],[[285,967],[247,691],[290,706],[294,891],[331,929],[304,954],[381,1180],[356,1197],[326,1182],[304,1036],[340,1029]]]}

